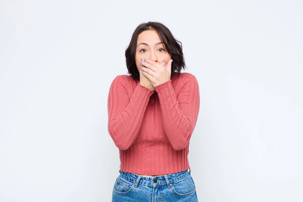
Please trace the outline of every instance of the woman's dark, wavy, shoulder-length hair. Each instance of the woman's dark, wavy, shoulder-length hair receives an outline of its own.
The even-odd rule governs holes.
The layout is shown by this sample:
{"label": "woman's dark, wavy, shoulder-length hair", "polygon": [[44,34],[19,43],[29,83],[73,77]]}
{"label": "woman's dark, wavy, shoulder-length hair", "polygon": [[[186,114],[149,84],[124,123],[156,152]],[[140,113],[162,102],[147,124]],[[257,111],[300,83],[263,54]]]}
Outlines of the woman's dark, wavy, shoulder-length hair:
{"label": "woman's dark, wavy, shoulder-length hair", "polygon": [[[126,66],[128,73],[134,80],[140,80],[140,75],[136,67],[135,56],[138,35],[145,30],[155,30],[160,36],[161,42],[164,44],[166,51],[171,56],[172,71],[171,78],[176,74],[180,75],[181,69],[185,69],[184,55],[182,52],[182,43],[174,38],[170,30],[159,22],[147,22],[140,24],[132,34],[130,43],[125,50]],[[180,43],[180,44],[179,44]]]}

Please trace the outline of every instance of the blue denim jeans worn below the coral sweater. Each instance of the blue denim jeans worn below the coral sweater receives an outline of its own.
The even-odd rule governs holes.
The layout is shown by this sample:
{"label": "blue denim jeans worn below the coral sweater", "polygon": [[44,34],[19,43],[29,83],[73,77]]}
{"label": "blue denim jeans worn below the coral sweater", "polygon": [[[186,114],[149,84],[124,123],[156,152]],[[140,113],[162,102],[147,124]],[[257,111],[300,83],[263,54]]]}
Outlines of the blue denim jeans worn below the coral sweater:
{"label": "blue denim jeans worn below the coral sweater", "polygon": [[112,202],[197,202],[190,169],[168,175],[144,177],[119,171]]}

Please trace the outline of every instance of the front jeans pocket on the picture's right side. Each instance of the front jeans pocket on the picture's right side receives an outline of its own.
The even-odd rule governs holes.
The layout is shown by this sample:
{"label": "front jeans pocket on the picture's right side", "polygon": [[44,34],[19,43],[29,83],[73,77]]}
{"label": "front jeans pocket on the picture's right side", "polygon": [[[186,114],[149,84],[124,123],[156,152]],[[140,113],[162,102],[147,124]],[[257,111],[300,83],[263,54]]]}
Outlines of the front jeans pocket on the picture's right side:
{"label": "front jeans pocket on the picture's right side", "polygon": [[177,196],[188,196],[195,192],[195,185],[191,175],[187,175],[185,178],[173,182],[171,186],[172,192]]}

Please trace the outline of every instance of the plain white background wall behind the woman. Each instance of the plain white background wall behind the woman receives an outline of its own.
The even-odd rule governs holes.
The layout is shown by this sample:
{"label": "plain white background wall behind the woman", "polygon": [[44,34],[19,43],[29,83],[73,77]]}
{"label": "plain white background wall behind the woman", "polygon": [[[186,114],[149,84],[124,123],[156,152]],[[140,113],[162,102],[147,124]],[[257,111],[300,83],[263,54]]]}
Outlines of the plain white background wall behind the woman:
{"label": "plain white background wall behind the woman", "polygon": [[108,92],[147,21],[183,43],[199,82],[199,201],[302,201],[299,0],[2,0],[0,201],[111,201],[120,161]]}

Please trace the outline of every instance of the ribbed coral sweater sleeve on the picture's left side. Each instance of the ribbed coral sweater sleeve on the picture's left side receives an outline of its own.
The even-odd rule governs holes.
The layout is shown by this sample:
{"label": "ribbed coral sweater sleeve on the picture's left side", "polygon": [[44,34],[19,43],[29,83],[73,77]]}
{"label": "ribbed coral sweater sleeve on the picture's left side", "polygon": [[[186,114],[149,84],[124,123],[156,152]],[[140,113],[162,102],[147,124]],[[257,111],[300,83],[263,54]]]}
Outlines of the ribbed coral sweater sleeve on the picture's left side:
{"label": "ribbed coral sweater sleeve on the picture's left side", "polygon": [[137,83],[129,98],[123,75],[118,75],[113,80],[108,95],[108,131],[118,148],[128,149],[138,136],[153,93],[155,92]]}

